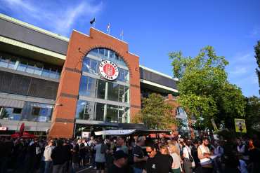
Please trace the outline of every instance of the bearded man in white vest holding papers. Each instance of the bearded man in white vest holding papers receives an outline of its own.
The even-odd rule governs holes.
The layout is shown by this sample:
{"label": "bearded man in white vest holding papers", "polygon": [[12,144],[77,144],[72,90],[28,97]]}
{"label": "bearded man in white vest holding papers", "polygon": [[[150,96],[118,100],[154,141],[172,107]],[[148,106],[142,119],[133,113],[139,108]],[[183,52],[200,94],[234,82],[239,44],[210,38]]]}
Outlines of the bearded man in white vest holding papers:
{"label": "bearded man in white vest holding papers", "polygon": [[204,137],[202,139],[202,144],[197,148],[197,158],[200,159],[200,165],[202,166],[204,173],[213,172],[212,160],[210,160],[212,151],[207,147],[208,144],[209,138]]}

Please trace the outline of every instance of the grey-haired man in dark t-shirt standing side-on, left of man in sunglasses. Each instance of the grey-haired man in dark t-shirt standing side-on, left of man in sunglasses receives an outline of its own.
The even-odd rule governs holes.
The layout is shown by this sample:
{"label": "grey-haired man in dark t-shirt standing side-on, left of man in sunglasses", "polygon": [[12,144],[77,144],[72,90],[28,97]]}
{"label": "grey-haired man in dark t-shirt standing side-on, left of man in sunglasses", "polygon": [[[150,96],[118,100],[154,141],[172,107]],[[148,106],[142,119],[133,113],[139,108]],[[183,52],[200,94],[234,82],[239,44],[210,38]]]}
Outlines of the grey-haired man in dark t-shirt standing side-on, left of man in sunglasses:
{"label": "grey-haired man in dark t-shirt standing side-on, left of man in sunglasses", "polygon": [[142,146],[145,143],[145,139],[143,139],[143,137],[138,137],[136,143],[137,144],[134,147],[134,172],[142,173],[145,168],[145,162],[148,160],[142,151]]}

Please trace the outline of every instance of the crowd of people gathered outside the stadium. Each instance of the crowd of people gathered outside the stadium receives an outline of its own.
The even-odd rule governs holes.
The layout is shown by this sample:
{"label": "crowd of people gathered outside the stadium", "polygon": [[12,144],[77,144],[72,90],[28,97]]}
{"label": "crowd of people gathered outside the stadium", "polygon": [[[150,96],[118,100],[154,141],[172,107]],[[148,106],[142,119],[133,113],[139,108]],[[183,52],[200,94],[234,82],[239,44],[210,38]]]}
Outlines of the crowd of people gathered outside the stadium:
{"label": "crowd of people gathered outside the stadium", "polygon": [[[0,139],[0,173],[76,172],[86,163],[96,173],[260,172],[260,141],[203,139]],[[134,158],[134,159],[130,159]],[[134,163],[134,166],[133,166]],[[70,168],[71,167],[71,168]]]}

